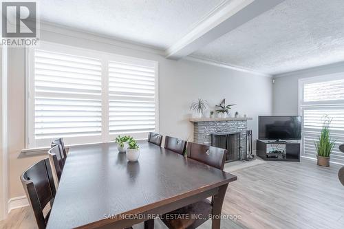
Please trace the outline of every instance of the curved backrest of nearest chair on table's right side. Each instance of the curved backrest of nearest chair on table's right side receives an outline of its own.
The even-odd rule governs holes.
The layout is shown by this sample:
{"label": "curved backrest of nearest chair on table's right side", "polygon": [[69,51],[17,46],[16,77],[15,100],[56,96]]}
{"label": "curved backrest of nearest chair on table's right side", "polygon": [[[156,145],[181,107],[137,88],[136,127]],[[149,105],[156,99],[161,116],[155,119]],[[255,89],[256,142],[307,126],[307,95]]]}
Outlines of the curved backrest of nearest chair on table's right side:
{"label": "curved backrest of nearest chair on table's right side", "polygon": [[222,171],[224,170],[224,162],[227,154],[226,149],[188,142],[187,151],[188,157],[193,160],[208,164],[208,166],[219,168]]}

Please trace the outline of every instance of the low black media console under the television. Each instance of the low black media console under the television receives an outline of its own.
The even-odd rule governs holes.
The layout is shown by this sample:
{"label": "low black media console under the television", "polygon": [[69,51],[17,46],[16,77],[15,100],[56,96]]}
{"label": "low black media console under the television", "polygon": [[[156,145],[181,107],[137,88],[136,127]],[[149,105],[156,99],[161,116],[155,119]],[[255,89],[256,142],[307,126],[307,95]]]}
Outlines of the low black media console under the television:
{"label": "low black media console under the television", "polygon": [[300,143],[297,141],[257,140],[257,156],[269,161],[299,162]]}

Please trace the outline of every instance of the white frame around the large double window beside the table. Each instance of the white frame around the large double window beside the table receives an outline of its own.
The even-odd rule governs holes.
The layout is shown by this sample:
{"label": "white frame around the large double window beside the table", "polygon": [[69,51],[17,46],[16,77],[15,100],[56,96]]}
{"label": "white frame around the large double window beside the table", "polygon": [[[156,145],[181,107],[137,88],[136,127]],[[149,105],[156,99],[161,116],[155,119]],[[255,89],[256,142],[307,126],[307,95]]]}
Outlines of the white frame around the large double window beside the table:
{"label": "white frame around the large double window beside the table", "polygon": [[[85,56],[89,58],[98,58],[102,63],[101,76],[101,117],[102,117],[102,131],[100,136],[85,136],[85,137],[69,137],[66,138],[66,145],[74,144],[94,144],[100,142],[110,142],[114,136],[109,134],[109,61],[121,60],[128,61],[128,63],[143,63],[150,64],[155,67],[155,131],[159,131],[159,77],[158,77],[158,61],[152,61],[143,58],[136,58],[132,56],[124,56],[120,54],[113,54],[108,52],[100,52],[96,50],[85,49],[83,47],[74,47],[71,45],[63,45],[58,43],[51,43],[41,41],[39,50],[47,50],[50,52],[60,52],[63,54],[70,54],[76,56]],[[25,149],[37,149],[50,146],[50,140],[46,140],[46,146],[37,145],[34,140],[34,50],[33,47],[25,48]],[[132,134],[134,138],[138,135]],[[142,135],[140,136],[142,137]],[[144,138],[147,139],[147,136]],[[42,141],[43,142],[43,141]],[[45,142],[44,142],[45,143]],[[49,143],[49,144],[48,144]]]}

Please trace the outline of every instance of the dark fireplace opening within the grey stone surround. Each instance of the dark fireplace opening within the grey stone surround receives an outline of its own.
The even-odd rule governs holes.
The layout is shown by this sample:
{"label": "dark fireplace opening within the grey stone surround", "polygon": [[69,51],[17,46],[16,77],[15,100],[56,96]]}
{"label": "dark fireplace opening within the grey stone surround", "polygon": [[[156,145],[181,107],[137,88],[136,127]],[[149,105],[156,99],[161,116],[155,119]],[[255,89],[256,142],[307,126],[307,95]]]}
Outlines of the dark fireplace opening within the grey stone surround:
{"label": "dark fireplace opening within the grey stone surround", "polygon": [[226,149],[226,162],[233,162],[241,159],[241,132],[211,133],[211,145]]}

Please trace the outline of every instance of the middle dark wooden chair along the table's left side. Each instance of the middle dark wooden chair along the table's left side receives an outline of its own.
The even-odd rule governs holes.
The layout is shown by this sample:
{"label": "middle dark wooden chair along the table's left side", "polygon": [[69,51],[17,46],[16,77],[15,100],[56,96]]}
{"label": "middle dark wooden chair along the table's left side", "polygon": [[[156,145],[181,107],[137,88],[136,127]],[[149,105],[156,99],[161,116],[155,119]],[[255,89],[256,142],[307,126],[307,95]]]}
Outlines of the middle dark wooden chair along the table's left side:
{"label": "middle dark wooden chair along the table's left side", "polygon": [[49,151],[47,151],[49,155],[50,164],[53,167],[53,172],[56,177],[56,185],[60,182],[63,167],[65,166],[63,162],[63,151],[61,144],[57,144],[56,146],[52,147]]}

